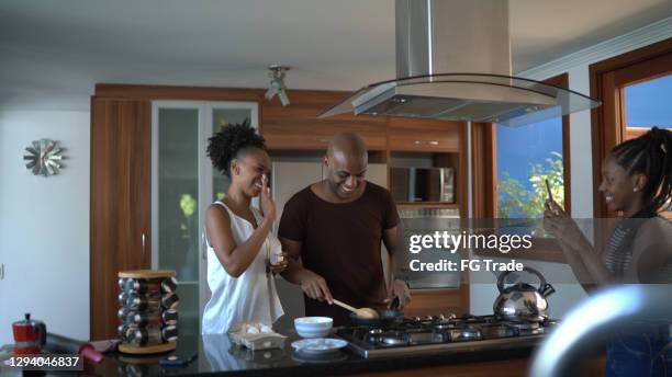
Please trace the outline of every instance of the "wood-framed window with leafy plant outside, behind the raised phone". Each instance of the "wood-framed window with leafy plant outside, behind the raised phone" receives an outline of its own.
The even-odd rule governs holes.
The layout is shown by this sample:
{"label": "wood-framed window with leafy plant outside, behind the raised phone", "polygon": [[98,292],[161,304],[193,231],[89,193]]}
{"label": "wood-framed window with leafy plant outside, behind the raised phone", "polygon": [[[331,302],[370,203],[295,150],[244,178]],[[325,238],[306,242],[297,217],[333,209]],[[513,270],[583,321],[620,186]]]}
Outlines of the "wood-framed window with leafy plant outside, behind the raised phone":
{"label": "wood-framed window with leafy plant outside, behind the raised phone", "polygon": [[[546,80],[563,88],[568,81],[567,73]],[[477,124],[472,146],[475,218],[542,217],[545,176],[551,176],[553,198],[571,210],[569,116],[517,128]],[[560,245],[546,238],[541,224],[513,220],[497,221],[495,227],[500,232],[533,233],[533,248],[516,254],[517,259],[564,262]]]}

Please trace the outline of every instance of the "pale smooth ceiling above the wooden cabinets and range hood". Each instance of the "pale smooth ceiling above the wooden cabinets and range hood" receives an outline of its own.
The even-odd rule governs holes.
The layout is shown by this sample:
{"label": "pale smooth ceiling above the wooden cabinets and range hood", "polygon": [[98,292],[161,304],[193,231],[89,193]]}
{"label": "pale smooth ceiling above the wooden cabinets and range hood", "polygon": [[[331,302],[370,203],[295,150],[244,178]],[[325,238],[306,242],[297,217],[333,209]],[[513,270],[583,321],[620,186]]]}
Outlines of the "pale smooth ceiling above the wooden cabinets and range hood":
{"label": "pale smooth ceiling above the wooden cabinets and range hood", "polygon": [[[672,16],[669,0],[511,0],[514,72]],[[96,82],[290,89],[394,78],[394,0],[0,0],[0,106],[87,110]]]}

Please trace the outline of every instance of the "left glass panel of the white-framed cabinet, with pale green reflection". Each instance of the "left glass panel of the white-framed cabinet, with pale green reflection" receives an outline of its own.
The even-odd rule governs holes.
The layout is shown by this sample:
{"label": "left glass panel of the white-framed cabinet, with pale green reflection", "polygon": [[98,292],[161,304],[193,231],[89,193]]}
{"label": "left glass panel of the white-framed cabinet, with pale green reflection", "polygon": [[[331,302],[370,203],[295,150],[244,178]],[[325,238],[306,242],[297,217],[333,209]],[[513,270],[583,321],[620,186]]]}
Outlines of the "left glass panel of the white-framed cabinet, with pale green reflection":
{"label": "left glass panel of the white-framed cabinet, with pale green reflection", "polygon": [[177,273],[180,335],[199,333],[199,111],[153,105],[152,261]]}

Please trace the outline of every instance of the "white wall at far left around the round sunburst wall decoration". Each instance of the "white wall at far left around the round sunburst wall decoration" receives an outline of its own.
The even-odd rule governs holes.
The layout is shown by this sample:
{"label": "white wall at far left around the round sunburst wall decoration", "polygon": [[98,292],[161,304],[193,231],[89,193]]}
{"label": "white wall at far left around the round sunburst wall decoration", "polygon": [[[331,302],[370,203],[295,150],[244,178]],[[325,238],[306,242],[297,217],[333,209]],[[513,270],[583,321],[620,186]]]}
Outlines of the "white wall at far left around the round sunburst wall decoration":
{"label": "white wall at far left around the round sunburst wall decoration", "polygon": [[[47,330],[89,339],[88,112],[0,111],[0,344],[31,312]],[[58,175],[33,175],[23,162],[32,140],[66,148]]]}

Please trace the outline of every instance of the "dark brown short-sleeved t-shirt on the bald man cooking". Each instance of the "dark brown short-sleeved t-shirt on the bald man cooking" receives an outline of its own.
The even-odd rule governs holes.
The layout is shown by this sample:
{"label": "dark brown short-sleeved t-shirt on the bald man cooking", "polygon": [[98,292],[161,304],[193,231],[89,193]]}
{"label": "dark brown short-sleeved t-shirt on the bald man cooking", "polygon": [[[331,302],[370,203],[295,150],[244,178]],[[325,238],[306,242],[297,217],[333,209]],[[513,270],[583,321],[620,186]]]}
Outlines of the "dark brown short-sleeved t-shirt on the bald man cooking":
{"label": "dark brown short-sleeved t-shirt on the bald man cooking", "polygon": [[[350,203],[329,203],[310,186],[287,202],[278,236],[301,242],[303,266],[325,278],[334,298],[354,307],[381,306],[387,297],[380,258],[383,230],[399,224],[390,192],[367,181]],[[349,322],[349,312],[304,296],[306,316]]]}

